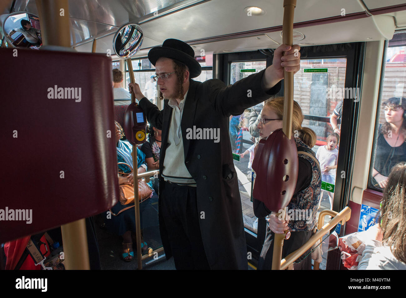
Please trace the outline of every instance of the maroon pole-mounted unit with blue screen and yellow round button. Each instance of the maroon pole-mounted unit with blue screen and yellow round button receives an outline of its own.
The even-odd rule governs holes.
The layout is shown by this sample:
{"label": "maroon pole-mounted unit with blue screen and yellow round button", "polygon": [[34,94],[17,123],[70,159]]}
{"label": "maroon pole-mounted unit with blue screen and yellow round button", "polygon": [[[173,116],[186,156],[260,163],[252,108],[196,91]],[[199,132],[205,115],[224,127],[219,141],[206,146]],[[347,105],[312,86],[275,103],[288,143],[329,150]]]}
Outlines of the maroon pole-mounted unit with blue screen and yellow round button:
{"label": "maroon pole-mounted unit with blue screen and yellow round button", "polygon": [[132,145],[143,144],[147,131],[147,118],[137,103],[131,103],[124,113],[124,133]]}

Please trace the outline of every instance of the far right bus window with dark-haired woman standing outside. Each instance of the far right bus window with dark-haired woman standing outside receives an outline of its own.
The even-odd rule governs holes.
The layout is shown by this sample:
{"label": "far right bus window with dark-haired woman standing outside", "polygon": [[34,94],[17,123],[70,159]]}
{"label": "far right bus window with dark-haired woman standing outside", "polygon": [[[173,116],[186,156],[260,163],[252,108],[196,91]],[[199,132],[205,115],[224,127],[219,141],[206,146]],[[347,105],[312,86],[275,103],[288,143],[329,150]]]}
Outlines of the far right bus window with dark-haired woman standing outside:
{"label": "far right bus window with dark-haired woman standing outside", "polygon": [[392,167],[406,161],[406,33],[395,32],[384,51],[368,180],[368,187],[378,191]]}

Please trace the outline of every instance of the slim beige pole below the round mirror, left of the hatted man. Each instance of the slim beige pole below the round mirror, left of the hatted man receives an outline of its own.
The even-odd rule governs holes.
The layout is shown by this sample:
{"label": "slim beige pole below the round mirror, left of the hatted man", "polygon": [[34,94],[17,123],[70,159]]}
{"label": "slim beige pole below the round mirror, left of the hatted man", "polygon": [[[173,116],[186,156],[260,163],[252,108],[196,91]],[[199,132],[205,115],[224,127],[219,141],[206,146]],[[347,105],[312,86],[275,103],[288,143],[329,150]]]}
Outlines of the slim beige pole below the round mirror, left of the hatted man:
{"label": "slim beige pole below the round mirror, left of the hatted man", "polygon": [[[131,83],[135,83],[134,71],[132,69],[131,58],[125,59],[127,62],[128,74],[130,75]],[[135,102],[134,92],[131,92],[131,103]],[[136,238],[137,238],[137,262],[138,270],[143,269],[143,259],[141,257],[141,226],[140,226],[140,204],[138,203],[138,160],[137,160],[137,146],[132,146],[132,169],[134,172],[134,212],[136,224]]]}

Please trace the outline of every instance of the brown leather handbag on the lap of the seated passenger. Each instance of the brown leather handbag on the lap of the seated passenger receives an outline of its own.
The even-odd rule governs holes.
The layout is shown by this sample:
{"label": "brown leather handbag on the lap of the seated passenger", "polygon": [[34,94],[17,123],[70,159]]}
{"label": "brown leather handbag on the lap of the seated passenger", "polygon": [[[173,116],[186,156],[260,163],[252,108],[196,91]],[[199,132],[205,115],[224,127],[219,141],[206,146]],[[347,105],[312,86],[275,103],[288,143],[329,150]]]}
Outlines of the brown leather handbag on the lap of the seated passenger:
{"label": "brown leather handbag on the lap of the seated passenger", "polygon": [[[127,163],[118,163],[118,164],[119,165],[120,164],[126,165],[127,167],[129,167],[131,169],[131,166],[128,165]],[[124,176],[128,176],[131,173],[119,172],[119,174],[123,174]],[[121,184],[119,186],[119,192],[120,192],[120,203],[121,203],[121,205],[128,205],[128,204],[133,204],[134,203],[134,187],[132,185]],[[152,194],[152,190],[148,186],[147,182],[145,182],[144,179],[138,179],[138,203],[144,202],[146,199],[151,197],[151,194]],[[117,216],[121,212],[123,212],[123,211],[125,211],[127,209],[130,209],[132,207],[134,207],[134,205],[123,208],[117,214],[114,214],[111,211],[111,209],[110,209],[110,212],[114,216]]]}

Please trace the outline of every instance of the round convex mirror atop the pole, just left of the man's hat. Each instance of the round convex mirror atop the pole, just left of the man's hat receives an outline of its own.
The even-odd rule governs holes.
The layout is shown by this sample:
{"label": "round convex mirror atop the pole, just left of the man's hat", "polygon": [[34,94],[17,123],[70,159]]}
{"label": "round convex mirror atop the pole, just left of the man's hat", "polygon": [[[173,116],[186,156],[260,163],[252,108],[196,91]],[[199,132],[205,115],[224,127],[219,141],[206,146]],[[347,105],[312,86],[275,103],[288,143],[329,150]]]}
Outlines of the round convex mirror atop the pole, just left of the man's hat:
{"label": "round convex mirror atop the pole, just left of the man's hat", "polygon": [[130,58],[141,47],[144,39],[143,30],[137,24],[125,24],[113,39],[113,49],[119,58]]}

